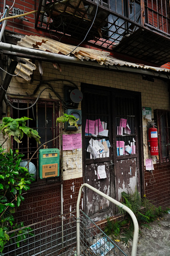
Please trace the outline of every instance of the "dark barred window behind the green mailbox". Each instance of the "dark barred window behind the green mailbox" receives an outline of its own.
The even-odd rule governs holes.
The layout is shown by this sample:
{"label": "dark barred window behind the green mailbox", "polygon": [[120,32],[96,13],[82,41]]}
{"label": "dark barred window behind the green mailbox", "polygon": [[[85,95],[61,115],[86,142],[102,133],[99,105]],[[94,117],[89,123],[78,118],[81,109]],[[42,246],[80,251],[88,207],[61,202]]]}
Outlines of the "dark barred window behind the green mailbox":
{"label": "dark barred window behind the green mailbox", "polygon": [[[34,102],[35,99],[27,99],[23,100],[22,98],[10,98],[12,105],[15,106],[14,109],[11,108],[11,117],[12,118],[21,118],[21,117],[29,117],[27,121],[27,126],[31,127],[38,131],[41,139],[41,144],[45,143],[44,146],[48,148],[59,148],[59,138],[57,137],[59,130],[56,127],[56,118],[59,116],[59,102],[58,101],[50,101],[50,100],[39,100],[33,106],[33,108],[29,108]],[[24,109],[24,110],[22,110]],[[22,153],[23,160],[26,162],[33,156],[31,162],[36,167],[36,181],[34,185],[46,185],[52,184],[60,181],[60,177],[52,177],[48,179],[40,179],[39,177],[39,151],[36,152],[37,148],[39,148],[40,144],[37,144],[35,139],[28,138],[27,135],[24,135],[21,143],[17,143],[13,141],[13,149],[14,151],[17,149],[19,153]],[[42,146],[41,148],[44,148]]]}

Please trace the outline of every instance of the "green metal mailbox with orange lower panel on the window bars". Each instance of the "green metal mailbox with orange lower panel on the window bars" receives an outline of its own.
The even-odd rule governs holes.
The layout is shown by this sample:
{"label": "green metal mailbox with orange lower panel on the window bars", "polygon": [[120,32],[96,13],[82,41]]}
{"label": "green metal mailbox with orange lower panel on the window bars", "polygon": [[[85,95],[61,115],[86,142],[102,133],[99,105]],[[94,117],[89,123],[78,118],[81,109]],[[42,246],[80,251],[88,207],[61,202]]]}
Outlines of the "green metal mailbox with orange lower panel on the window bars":
{"label": "green metal mailbox with orange lower panel on the window bars", "polygon": [[39,151],[40,179],[59,176],[59,149],[44,148]]}

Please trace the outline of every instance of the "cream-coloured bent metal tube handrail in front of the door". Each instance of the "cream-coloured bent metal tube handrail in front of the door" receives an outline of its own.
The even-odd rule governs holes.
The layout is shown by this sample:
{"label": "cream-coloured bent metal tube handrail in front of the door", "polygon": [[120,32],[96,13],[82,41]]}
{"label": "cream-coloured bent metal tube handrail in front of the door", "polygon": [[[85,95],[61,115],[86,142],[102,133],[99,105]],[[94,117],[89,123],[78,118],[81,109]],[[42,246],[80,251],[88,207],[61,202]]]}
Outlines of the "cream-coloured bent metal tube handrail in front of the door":
{"label": "cream-coloured bent metal tube handrail in front of the door", "polygon": [[77,222],[76,222],[76,243],[77,243],[77,255],[80,256],[80,198],[82,195],[82,189],[83,187],[87,187],[90,188],[92,191],[96,192],[97,194],[99,194],[100,196],[103,196],[105,199],[111,201],[113,204],[116,204],[118,207],[121,207],[122,209],[124,209],[126,212],[128,212],[130,214],[130,217],[133,220],[133,224],[134,224],[134,234],[133,234],[133,243],[132,243],[132,250],[131,250],[131,256],[135,256],[137,255],[137,244],[138,244],[138,234],[139,234],[139,225],[138,225],[138,221],[137,218],[135,217],[135,214],[132,212],[132,210],[130,210],[128,207],[126,207],[126,205],[121,204],[120,202],[118,202],[117,200],[113,199],[112,197],[105,195],[103,192],[99,191],[98,189],[92,187],[91,185],[84,183],[81,185],[80,189],[79,189],[79,195],[78,195],[78,200],[76,202],[76,218],[77,218]]}

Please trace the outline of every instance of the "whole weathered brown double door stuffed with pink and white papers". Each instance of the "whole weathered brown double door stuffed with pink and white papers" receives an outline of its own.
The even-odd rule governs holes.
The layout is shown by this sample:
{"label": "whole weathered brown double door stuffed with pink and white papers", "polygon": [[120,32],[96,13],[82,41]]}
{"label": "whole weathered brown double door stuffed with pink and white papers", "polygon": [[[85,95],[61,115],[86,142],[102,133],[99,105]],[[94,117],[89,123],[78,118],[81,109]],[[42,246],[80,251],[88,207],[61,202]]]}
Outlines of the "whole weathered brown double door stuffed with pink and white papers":
{"label": "whole weathered brown double door stuffed with pink and white papers", "polygon": [[[141,192],[140,94],[87,84],[82,92],[84,182],[117,200],[122,191]],[[99,150],[101,144],[104,150]],[[115,213],[114,205],[90,189],[84,205],[96,221]]]}

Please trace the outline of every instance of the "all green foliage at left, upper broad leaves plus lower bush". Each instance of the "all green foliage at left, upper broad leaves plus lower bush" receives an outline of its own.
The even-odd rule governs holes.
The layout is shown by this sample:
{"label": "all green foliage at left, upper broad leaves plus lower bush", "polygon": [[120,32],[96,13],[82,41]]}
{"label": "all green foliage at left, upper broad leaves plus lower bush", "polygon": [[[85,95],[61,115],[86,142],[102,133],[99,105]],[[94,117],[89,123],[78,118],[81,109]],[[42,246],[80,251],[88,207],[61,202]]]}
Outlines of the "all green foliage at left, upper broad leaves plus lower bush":
{"label": "all green foliage at left, upper broad leaves plus lower bush", "polygon": [[[23,134],[29,138],[33,137],[40,143],[40,137],[36,130],[27,127],[25,124],[29,118],[22,117],[13,119],[5,117],[2,119],[0,131],[7,139],[11,136],[20,143]],[[6,141],[5,140],[5,141]],[[33,175],[29,174],[28,169],[20,167],[23,155],[13,152],[12,149],[5,152],[0,146],[0,253],[2,253],[5,243],[12,237],[12,233],[7,234],[17,226],[14,224],[15,208],[20,206],[24,200],[24,192],[29,189],[29,184],[33,181]],[[22,233],[26,233],[28,228],[23,228]],[[23,235],[22,234],[22,235]],[[18,239],[20,239],[19,236]],[[19,241],[17,241],[19,246]]]}

